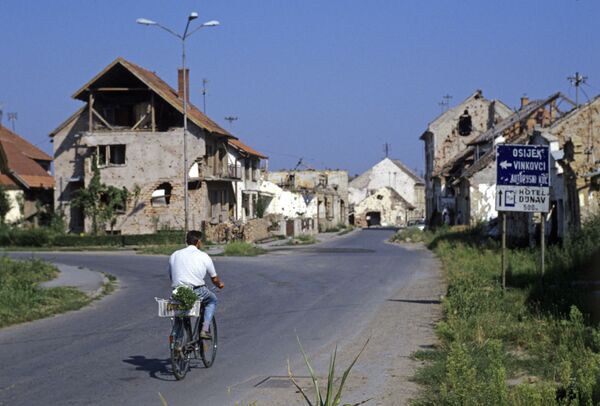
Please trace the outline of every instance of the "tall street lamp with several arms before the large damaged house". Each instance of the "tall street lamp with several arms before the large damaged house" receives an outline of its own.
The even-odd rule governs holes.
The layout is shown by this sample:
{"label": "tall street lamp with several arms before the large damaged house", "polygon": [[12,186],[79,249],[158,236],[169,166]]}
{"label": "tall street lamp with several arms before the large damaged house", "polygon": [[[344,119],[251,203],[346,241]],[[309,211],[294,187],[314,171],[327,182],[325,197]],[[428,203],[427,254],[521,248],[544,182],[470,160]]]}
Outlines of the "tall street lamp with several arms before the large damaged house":
{"label": "tall street lamp with several arms before the large damaged house", "polygon": [[182,69],[182,73],[183,73],[183,200],[184,200],[184,216],[185,216],[185,221],[184,221],[184,228],[185,228],[185,232],[188,232],[188,160],[187,160],[187,73],[185,70],[185,40],[188,39],[193,33],[195,33],[196,31],[200,30],[201,28],[204,27],[216,27],[218,26],[220,23],[216,20],[211,20],[211,21],[207,21],[203,24],[201,24],[200,26],[196,27],[195,29],[191,30],[188,32],[188,29],[190,28],[190,23],[195,20],[196,18],[198,18],[198,13],[191,12],[190,15],[188,16],[187,19],[187,23],[185,25],[185,30],[183,31],[183,35],[177,34],[175,31],[171,30],[168,27],[165,27],[163,25],[161,25],[160,23],[153,21],[153,20],[148,20],[147,18],[138,18],[137,20],[135,20],[136,23],[141,24],[141,25],[147,25],[147,26],[152,26],[155,25],[159,28],[162,28],[163,30],[167,31],[169,34],[179,38],[181,40],[181,69]]}

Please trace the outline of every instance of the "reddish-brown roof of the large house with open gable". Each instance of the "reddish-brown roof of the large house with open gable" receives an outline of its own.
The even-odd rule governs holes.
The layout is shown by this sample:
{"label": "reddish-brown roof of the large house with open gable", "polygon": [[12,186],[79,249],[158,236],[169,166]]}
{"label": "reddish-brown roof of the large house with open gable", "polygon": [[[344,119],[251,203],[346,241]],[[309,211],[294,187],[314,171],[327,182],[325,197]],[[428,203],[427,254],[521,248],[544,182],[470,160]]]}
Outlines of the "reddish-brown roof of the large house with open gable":
{"label": "reddish-brown roof of the large house with open gable", "polygon": [[[177,95],[177,92],[165,83],[161,78],[159,78],[154,72],[150,72],[147,69],[142,68],[134,63],[131,63],[121,57],[115,59],[110,65],[108,65],[102,72],[96,75],[92,80],[83,85],[81,89],[79,89],[73,95],[75,99],[81,99],[83,94],[88,90],[88,88],[96,82],[100,77],[102,77],[106,72],[108,72],[113,66],[116,64],[121,64],[131,73],[133,73],[139,80],[141,80],[146,86],[150,89],[154,90],[159,96],[161,96],[167,103],[172,105],[179,112],[183,113],[183,100],[180,99]],[[203,128],[211,133],[221,135],[224,137],[233,137],[229,132],[221,128],[217,123],[208,118],[204,113],[198,110],[193,104],[188,103],[187,105],[187,113],[189,119],[200,128]]]}

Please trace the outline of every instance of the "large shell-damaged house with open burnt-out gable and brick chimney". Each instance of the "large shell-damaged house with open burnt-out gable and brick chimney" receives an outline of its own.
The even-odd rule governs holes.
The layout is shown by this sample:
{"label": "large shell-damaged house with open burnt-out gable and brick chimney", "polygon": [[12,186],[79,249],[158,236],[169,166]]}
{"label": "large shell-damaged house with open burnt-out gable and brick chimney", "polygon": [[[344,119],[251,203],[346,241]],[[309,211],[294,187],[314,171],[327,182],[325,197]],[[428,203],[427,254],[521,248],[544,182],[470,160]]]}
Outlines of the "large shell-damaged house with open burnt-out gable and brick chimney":
{"label": "large shell-damaged house with open burnt-out gable and brick chimney", "polygon": [[111,228],[115,233],[183,229],[185,189],[191,229],[252,216],[252,191],[258,189],[253,182],[266,157],[189,100],[188,183],[183,184],[184,94],[189,95],[183,83],[182,70],[174,90],[155,73],[117,58],[73,94],[85,105],[50,134],[55,207],[68,231],[90,231],[89,219],[71,200],[88,186],[92,163],[102,183],[129,192]]}

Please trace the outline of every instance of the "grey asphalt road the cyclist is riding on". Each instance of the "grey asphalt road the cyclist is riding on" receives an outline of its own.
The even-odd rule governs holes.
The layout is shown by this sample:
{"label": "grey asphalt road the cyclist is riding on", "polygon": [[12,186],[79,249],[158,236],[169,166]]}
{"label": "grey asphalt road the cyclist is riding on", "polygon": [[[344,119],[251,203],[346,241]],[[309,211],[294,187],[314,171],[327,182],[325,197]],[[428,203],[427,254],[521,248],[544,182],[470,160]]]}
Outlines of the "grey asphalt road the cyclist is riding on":
{"label": "grey asphalt road the cyclist is riding on", "polygon": [[[419,251],[364,230],[300,250],[256,258],[215,258],[219,352],[184,381],[170,374],[168,319],[154,297],[169,294],[167,257],[41,253],[109,272],[120,289],[77,312],[0,330],[0,405],[234,405],[269,376],[362,331],[386,297],[429,266]],[[12,254],[30,257],[31,254]],[[400,338],[401,339],[401,338]]]}

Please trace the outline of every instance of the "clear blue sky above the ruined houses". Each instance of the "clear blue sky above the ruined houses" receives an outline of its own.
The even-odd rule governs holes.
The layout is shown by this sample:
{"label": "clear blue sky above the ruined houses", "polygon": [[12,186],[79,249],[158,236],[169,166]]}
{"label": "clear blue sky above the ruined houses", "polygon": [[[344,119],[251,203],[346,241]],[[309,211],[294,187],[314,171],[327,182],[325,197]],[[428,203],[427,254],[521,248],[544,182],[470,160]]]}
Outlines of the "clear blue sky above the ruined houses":
{"label": "clear blue sky above the ruined houses", "polygon": [[[190,97],[270,169],[300,158],[314,169],[362,173],[384,158],[421,172],[420,135],[476,89],[511,107],[588,77],[600,93],[598,0],[0,0],[3,124],[52,155],[48,134],[82,103],[71,95],[118,56],[176,86],[182,32]],[[238,117],[233,123],[227,116]]]}

